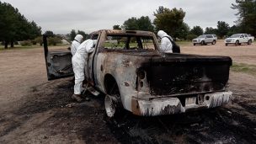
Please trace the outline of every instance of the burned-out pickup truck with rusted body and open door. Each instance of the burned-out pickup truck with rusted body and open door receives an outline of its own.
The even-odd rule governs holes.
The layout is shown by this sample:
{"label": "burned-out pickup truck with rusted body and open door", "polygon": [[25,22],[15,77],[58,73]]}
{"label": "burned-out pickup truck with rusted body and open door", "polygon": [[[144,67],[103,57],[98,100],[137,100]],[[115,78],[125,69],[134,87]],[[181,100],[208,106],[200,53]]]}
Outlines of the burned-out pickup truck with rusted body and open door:
{"label": "burned-out pickup truck with rusted body and open door", "polygon": [[[134,115],[173,115],[189,110],[227,104],[228,56],[198,56],[161,53],[157,37],[147,31],[99,30],[88,58],[86,80],[105,94],[109,117],[118,109]],[[44,35],[45,62],[49,80],[71,77],[70,51],[48,51]]]}

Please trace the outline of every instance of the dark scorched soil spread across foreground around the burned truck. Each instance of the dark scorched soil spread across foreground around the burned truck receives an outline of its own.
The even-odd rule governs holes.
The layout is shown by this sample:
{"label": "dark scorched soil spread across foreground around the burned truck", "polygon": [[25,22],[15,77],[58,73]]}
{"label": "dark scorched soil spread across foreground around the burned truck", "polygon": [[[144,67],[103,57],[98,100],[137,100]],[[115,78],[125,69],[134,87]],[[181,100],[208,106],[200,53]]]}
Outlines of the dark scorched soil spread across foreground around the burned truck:
{"label": "dark scorched soil spread across foreground around the burned truck", "polygon": [[[47,142],[59,136],[66,143],[76,139],[85,143],[256,142],[256,122],[248,118],[248,113],[254,118],[256,115],[253,100],[234,99],[228,106],[180,115],[140,117],[124,112],[109,119],[104,112],[104,97],[88,95],[90,101],[77,104],[70,98],[72,87],[72,78],[66,78],[31,88],[28,99],[0,119],[0,125],[4,125],[0,143],[31,138]],[[236,97],[241,95],[237,92]],[[17,135],[18,130],[23,132]],[[37,130],[42,131],[40,136]],[[31,133],[35,136],[29,137]]]}

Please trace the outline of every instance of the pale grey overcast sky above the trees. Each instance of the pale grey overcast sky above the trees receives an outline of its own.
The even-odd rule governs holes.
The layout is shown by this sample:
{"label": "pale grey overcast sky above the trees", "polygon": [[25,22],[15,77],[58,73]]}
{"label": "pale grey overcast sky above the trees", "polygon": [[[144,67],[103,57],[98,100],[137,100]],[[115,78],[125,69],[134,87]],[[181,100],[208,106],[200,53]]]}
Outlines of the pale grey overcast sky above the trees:
{"label": "pale grey overcast sky above the trees", "polygon": [[182,8],[186,12],[184,22],[190,28],[216,28],[217,21],[231,26],[237,19],[231,7],[235,0],[1,0],[10,3],[29,19],[40,25],[42,31],[67,34],[71,29],[90,33],[98,29],[112,29],[131,17],[149,16],[159,6]]}

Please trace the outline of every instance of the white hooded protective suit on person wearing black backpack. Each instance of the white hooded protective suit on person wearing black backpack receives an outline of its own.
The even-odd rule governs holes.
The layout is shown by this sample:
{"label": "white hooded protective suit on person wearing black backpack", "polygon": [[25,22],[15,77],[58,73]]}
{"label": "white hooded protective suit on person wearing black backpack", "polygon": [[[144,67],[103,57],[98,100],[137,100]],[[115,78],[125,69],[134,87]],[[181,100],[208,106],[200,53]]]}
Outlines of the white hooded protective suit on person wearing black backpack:
{"label": "white hooded protective suit on person wearing black backpack", "polygon": [[157,35],[161,38],[160,51],[166,52],[166,53],[172,53],[173,44],[170,40],[168,40],[168,38],[170,38],[171,40],[173,40],[173,38],[170,35],[167,35],[163,30],[159,30]]}

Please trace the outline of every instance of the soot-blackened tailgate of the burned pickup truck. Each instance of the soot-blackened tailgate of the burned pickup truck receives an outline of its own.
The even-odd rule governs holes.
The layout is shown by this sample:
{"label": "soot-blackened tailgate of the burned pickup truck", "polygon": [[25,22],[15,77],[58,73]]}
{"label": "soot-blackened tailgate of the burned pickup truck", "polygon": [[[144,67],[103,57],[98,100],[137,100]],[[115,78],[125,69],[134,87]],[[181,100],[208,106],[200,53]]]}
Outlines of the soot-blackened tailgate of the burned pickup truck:
{"label": "soot-blackened tailgate of the burned pickup truck", "polygon": [[209,93],[227,86],[232,59],[227,56],[166,55],[144,63],[152,95]]}

